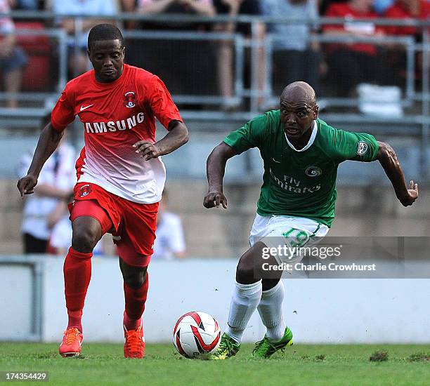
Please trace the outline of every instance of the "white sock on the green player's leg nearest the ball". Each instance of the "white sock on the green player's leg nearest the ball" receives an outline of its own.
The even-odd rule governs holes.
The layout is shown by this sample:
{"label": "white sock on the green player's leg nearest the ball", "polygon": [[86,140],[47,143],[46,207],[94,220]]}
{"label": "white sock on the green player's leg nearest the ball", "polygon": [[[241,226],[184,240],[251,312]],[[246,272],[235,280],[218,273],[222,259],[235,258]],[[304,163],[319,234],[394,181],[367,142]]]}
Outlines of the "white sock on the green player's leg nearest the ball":
{"label": "white sock on the green player's leg nearest the ball", "polygon": [[226,334],[240,343],[243,331],[261,299],[261,280],[253,284],[236,283],[230,302]]}

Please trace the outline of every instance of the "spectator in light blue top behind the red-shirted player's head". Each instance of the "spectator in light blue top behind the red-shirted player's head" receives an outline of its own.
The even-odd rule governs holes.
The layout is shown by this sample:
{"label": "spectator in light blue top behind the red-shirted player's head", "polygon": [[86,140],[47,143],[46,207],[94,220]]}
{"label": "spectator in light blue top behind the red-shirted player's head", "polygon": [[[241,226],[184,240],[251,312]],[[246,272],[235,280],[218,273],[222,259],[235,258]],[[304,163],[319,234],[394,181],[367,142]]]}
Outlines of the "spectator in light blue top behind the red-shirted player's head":
{"label": "spectator in light blue top behind the red-shirted player's head", "polygon": [[[117,12],[114,0],[52,0],[52,11],[59,16],[57,23],[70,36],[69,70],[70,77],[78,76],[89,70],[86,53],[86,41],[89,30],[100,23],[112,23],[104,16],[112,16]],[[89,15],[93,18],[67,18],[63,15]],[[77,27],[77,30],[75,30]],[[77,46],[76,36],[77,35]]]}

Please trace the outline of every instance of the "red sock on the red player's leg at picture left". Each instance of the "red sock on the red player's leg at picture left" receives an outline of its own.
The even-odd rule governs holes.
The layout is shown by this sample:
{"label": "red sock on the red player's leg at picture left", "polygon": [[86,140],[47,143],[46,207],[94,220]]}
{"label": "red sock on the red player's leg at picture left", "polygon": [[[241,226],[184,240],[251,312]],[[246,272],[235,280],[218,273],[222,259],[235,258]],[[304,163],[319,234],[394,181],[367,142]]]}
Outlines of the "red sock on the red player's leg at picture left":
{"label": "red sock on the red player's leg at picture left", "polygon": [[64,284],[67,314],[67,328],[75,327],[82,332],[82,309],[86,290],[91,279],[91,257],[93,253],[81,253],[69,248],[64,260]]}

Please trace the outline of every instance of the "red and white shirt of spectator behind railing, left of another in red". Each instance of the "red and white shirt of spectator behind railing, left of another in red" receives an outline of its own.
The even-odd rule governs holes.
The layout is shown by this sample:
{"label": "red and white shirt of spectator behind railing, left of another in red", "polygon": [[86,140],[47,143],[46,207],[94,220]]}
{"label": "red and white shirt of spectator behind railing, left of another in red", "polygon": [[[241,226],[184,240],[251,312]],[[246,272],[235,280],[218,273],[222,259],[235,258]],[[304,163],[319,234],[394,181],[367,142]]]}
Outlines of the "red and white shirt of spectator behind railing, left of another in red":
{"label": "red and white shirt of spectator behind railing, left of another in red", "polygon": [[[366,13],[359,13],[346,3],[331,4],[327,9],[325,15],[331,18],[347,18],[350,20],[354,18],[369,18],[369,19],[378,18],[377,13],[374,13],[373,11],[366,12]],[[344,29],[344,31],[348,31],[353,34],[359,34],[359,35],[367,34],[369,36],[372,36],[372,34],[374,34],[379,30],[382,31],[382,29],[377,28],[377,26],[374,25],[372,20],[369,20],[368,22],[355,22],[355,23],[346,21],[344,25],[326,25],[324,27],[324,29],[327,29],[327,28]],[[336,46],[338,47],[338,45]],[[344,45],[342,45],[341,47],[345,48]],[[368,53],[370,55],[377,54],[377,48],[372,44],[365,44],[365,43],[351,44],[347,46],[347,49],[351,51]]]}

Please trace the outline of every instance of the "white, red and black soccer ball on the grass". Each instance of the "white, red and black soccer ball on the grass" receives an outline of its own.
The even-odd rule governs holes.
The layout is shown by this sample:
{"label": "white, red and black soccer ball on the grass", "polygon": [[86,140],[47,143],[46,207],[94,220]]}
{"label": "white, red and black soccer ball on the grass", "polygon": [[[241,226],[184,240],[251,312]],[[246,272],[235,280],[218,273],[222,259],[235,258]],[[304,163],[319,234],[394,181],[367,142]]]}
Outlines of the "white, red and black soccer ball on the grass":
{"label": "white, red and black soccer ball on the grass", "polygon": [[190,359],[204,359],[216,351],[221,342],[218,322],[204,312],[187,312],[173,331],[173,343],[179,354]]}

